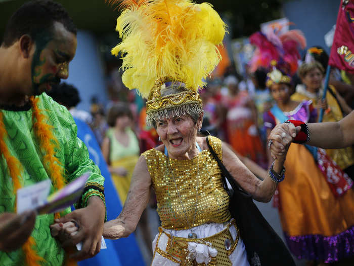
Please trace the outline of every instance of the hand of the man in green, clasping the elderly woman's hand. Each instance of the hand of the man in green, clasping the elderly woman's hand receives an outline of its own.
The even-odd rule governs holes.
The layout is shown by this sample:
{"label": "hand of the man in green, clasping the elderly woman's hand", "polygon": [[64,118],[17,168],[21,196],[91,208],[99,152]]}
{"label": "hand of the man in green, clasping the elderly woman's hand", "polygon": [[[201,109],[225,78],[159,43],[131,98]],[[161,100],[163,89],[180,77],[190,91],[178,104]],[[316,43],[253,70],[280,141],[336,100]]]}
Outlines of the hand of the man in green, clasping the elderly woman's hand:
{"label": "hand of the man in green, clasping the elderly woman's hand", "polygon": [[105,210],[101,198],[93,196],[87,201],[87,207],[77,209],[55,220],[56,223],[75,221],[79,226],[77,234],[70,235],[74,245],[83,242],[81,251],[73,256],[74,259],[90,258],[100,252]]}

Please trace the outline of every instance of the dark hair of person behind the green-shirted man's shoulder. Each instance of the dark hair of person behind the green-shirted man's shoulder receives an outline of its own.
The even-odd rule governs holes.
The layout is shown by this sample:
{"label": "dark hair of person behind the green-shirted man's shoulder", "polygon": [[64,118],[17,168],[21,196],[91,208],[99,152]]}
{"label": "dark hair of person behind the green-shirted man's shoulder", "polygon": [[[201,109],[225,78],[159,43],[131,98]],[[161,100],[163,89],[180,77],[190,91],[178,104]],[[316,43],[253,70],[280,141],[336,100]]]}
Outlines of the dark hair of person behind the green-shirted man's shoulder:
{"label": "dark hair of person behind the green-shirted man's shoulder", "polygon": [[47,94],[67,108],[75,107],[81,101],[78,90],[65,82],[53,86]]}

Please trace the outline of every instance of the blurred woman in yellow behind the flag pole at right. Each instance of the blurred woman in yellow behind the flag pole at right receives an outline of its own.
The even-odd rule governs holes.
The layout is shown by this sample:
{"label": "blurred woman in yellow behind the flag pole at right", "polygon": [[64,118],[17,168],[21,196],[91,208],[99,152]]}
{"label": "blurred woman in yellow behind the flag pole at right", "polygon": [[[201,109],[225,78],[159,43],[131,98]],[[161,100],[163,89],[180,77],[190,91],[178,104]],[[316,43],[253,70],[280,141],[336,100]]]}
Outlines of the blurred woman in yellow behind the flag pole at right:
{"label": "blurred woman in yellow behind the flag pole at right", "polygon": [[[319,62],[303,63],[299,67],[298,73],[303,85],[296,87],[296,92],[291,96],[292,100],[312,100],[318,112],[320,108],[324,108],[323,122],[337,122],[351,111],[351,108],[331,85],[327,90],[326,102],[321,101],[324,69]],[[326,153],[349,177],[354,178],[354,150],[352,147],[327,149]]]}

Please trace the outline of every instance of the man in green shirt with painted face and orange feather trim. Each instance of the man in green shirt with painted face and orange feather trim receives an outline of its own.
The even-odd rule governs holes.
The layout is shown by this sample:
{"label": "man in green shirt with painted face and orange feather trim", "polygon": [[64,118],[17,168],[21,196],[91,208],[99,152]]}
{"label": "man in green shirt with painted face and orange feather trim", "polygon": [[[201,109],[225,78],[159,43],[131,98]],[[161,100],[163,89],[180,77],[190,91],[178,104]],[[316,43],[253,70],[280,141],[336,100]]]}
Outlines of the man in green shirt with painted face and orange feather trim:
{"label": "man in green shirt with painted face and orange feather trim", "polygon": [[[61,265],[64,240],[83,243],[76,260],[100,251],[104,178],[70,113],[45,93],[68,78],[75,51],[76,27],[52,1],[24,4],[6,27],[0,46],[1,265]],[[15,214],[17,189],[51,179],[53,193],[86,172],[91,175],[75,211]]]}

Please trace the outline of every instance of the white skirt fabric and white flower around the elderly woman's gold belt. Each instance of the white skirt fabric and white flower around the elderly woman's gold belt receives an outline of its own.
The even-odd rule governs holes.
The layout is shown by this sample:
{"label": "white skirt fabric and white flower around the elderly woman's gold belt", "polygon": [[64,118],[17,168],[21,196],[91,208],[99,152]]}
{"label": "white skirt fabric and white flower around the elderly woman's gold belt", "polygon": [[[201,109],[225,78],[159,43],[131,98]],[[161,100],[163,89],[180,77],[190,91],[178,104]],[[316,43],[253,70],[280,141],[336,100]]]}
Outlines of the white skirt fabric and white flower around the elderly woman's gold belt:
{"label": "white skirt fabric and white flower around the elderly woman's gold belt", "polygon": [[[198,238],[206,238],[210,237],[212,235],[215,235],[219,233],[220,231],[223,231],[224,228],[226,227],[223,223],[204,223],[202,225],[196,226],[193,229],[193,232],[197,234]],[[237,231],[234,226],[230,227],[230,233],[232,238],[235,240],[237,237]],[[188,234],[191,233],[191,230],[168,230],[168,229],[163,229],[164,232],[167,234],[174,236],[174,237],[183,237],[183,238],[188,238]],[[156,241],[157,241],[158,234],[156,235],[154,241],[152,242],[152,249],[153,252],[155,253],[155,248],[156,248]],[[166,245],[167,245],[168,237],[165,234],[161,234],[159,242],[157,243],[157,246],[162,250],[166,251]],[[193,242],[192,242],[193,243]],[[191,243],[190,243],[191,244]],[[195,243],[194,243],[195,244]],[[201,245],[201,246],[199,246]],[[199,247],[198,247],[199,246]],[[197,249],[198,247],[198,249]],[[215,251],[217,254],[217,250],[215,248],[209,249],[206,245],[203,244],[198,244],[198,245],[189,245],[188,248],[191,248],[195,250],[193,254],[195,254],[196,259],[198,258],[197,262],[199,262],[203,259],[203,262],[209,262],[210,257],[208,255],[214,255]],[[208,255],[206,254],[208,252]],[[215,254],[215,256],[216,256]],[[243,244],[243,241],[241,237],[239,237],[239,241],[237,243],[237,246],[234,250],[234,252],[231,253],[229,256],[230,261],[232,262],[232,266],[249,266],[248,260],[247,260],[247,254],[246,254],[246,249],[245,245]],[[207,259],[207,261],[206,261]],[[178,266],[180,265],[179,263],[175,263],[163,256],[161,256],[159,253],[156,252],[153,261],[152,261],[152,266]]]}

